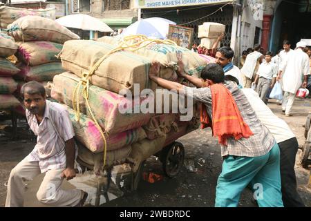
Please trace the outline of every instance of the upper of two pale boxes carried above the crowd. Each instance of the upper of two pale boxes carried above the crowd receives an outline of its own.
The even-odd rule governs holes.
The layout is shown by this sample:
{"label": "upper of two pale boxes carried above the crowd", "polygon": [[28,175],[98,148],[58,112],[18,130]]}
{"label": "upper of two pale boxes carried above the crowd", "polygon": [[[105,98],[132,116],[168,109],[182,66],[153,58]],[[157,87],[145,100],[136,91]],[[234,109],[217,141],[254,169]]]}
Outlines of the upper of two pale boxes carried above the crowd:
{"label": "upper of two pale boxes carried above the crowd", "polygon": [[219,37],[225,32],[226,26],[222,23],[205,22],[198,26],[198,38],[203,37]]}

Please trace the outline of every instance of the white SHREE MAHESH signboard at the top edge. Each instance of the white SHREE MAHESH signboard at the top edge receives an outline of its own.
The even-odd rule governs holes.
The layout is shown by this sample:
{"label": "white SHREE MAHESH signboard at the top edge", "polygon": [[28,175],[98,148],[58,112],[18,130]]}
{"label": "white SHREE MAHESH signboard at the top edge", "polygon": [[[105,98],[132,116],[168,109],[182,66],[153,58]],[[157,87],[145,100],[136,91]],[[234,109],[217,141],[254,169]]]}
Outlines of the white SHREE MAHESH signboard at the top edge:
{"label": "white SHREE MAHESH signboard at the top edge", "polygon": [[234,0],[135,0],[134,8],[167,8],[227,3]]}

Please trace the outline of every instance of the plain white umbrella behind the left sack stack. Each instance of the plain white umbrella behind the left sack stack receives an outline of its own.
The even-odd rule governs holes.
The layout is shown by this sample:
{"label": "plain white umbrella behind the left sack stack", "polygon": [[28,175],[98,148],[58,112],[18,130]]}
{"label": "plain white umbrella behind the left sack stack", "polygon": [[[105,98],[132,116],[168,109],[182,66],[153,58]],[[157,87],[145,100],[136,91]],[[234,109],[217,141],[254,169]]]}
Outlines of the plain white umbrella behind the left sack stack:
{"label": "plain white umbrella behind the left sack stack", "polygon": [[55,21],[67,28],[113,32],[113,30],[107,26],[106,23],[100,21],[100,19],[84,14],[67,15]]}

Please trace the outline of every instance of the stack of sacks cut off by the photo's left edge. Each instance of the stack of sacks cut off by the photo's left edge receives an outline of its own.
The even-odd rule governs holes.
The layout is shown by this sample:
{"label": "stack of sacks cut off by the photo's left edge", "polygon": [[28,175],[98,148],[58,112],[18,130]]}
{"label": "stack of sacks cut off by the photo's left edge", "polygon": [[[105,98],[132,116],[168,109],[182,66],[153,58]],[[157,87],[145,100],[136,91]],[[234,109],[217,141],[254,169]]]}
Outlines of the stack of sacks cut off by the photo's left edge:
{"label": "stack of sacks cut off by the photo's left edge", "polygon": [[7,57],[15,54],[17,44],[14,39],[0,33],[0,110],[14,110],[19,106],[19,101],[12,95],[17,90],[17,82],[12,78],[19,73]]}

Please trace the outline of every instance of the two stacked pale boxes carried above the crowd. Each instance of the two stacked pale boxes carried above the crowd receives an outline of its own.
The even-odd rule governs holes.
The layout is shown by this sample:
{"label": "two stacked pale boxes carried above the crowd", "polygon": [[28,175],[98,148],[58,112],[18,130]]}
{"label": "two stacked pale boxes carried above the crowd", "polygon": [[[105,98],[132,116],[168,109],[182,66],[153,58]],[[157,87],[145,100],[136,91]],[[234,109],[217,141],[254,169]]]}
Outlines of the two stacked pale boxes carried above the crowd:
{"label": "two stacked pale boxes carried above the crowd", "polygon": [[[205,22],[198,26],[198,38],[200,39],[200,46],[211,49],[217,38],[225,32],[226,26],[221,23]],[[217,48],[220,47],[220,42]]]}

